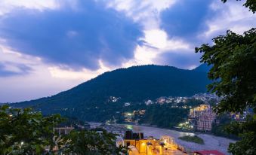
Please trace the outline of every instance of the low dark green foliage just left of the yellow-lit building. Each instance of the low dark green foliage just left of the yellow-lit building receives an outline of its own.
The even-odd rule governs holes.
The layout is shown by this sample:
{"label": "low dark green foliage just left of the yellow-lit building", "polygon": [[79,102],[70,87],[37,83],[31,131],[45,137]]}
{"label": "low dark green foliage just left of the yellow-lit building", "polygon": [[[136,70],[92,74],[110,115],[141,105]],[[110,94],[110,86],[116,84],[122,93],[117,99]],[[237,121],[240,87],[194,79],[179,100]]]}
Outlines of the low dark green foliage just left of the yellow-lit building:
{"label": "low dark green foliage just left of the yellow-lit building", "polygon": [[63,139],[64,153],[75,153],[77,155],[115,155],[126,153],[126,147],[116,147],[116,135],[103,131],[72,131]]}

